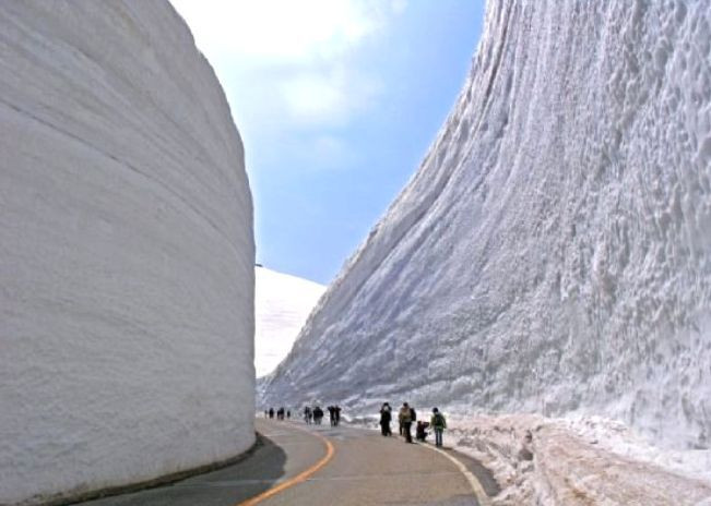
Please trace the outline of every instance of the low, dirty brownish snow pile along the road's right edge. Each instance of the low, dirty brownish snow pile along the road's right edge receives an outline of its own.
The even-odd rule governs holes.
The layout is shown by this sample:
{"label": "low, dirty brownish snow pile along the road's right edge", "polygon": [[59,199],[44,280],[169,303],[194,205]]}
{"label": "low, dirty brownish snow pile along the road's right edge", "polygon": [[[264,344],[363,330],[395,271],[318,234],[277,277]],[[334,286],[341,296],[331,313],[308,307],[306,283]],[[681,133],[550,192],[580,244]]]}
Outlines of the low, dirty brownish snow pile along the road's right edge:
{"label": "low, dirty brownish snow pile along the road's right edge", "polygon": [[489,468],[495,505],[699,505],[711,501],[711,451],[654,448],[601,418],[450,415],[445,444]]}

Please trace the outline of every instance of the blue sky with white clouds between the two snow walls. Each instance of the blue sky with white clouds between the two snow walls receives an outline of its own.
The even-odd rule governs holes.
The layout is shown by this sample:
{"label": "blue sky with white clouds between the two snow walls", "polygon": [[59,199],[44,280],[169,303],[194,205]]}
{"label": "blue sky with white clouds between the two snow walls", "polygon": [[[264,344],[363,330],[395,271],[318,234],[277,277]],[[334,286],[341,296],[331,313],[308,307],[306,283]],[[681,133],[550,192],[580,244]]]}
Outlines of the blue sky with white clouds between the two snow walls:
{"label": "blue sky with white clouds between the two snow walls", "polygon": [[245,144],[257,262],[328,284],[435,140],[484,0],[171,1]]}

